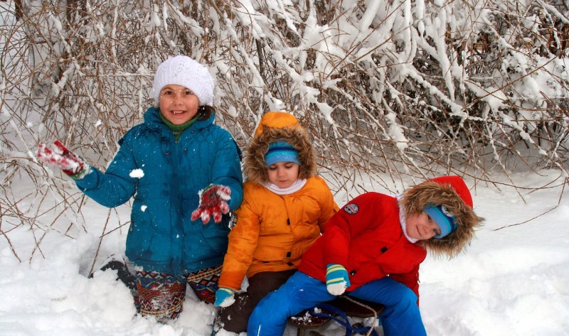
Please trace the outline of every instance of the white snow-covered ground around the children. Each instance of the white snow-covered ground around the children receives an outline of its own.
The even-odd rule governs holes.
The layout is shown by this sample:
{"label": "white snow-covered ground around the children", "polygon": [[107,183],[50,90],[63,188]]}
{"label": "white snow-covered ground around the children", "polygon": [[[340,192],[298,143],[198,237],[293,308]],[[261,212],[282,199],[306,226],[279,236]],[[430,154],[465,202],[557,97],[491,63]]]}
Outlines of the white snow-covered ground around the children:
{"label": "white snow-covered ground around the children", "polygon": [[[569,188],[563,189],[557,171],[541,173],[511,175],[522,187],[551,187],[533,193],[477,183],[474,207],[486,218],[477,239],[466,254],[452,260],[429,256],[422,264],[420,302],[429,335],[569,335]],[[128,217],[126,205],[117,210]],[[87,233],[73,239],[48,234],[31,261],[22,257],[34,248],[22,251],[29,228],[10,232],[11,245],[0,237],[0,335],[210,335],[214,308],[191,291],[180,318],[161,325],[136,315],[114,271],[87,278],[100,240],[97,225],[106,222],[108,210],[87,202],[82,212],[87,225],[93,223]],[[122,231],[105,237],[100,256],[123,252]],[[18,246],[23,262],[11,246]],[[321,333],[344,335],[335,323]],[[285,335],[295,332],[287,328]]]}

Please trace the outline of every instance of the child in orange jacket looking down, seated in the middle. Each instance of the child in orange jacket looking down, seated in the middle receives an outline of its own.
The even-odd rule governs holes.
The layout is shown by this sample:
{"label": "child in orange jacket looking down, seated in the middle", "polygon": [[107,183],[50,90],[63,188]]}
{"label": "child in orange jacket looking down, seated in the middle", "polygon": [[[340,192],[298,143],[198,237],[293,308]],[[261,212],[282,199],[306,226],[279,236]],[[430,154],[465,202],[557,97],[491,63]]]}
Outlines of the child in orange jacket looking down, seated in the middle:
{"label": "child in orange jacket looking down, seated in the middle", "polygon": [[[338,211],[317,176],[312,143],[292,114],[268,112],[245,152],[243,203],[216,292],[214,330],[245,332],[249,316],[267,293],[297,270],[300,259]],[[239,292],[243,278],[248,288]]]}

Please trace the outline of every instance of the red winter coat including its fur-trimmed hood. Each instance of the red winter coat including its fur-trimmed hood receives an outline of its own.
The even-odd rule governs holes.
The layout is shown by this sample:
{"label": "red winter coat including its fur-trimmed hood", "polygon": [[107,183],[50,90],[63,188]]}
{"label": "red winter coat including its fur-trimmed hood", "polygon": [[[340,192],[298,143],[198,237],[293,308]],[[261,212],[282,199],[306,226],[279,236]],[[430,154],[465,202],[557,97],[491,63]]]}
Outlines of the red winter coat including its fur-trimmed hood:
{"label": "red winter coat including its fur-trimmed hood", "polygon": [[[350,274],[347,291],[390,276],[419,297],[419,264],[427,249],[435,255],[459,254],[484,219],[474,213],[472,195],[458,176],[440,176],[415,185],[405,190],[400,204],[395,197],[380,193],[356,197],[329,220],[326,232],[302,257],[299,271],[326,282],[326,265],[341,264]],[[413,244],[403,234],[400,217],[422,212],[427,204],[445,205],[455,216],[457,229],[442,239]]]}

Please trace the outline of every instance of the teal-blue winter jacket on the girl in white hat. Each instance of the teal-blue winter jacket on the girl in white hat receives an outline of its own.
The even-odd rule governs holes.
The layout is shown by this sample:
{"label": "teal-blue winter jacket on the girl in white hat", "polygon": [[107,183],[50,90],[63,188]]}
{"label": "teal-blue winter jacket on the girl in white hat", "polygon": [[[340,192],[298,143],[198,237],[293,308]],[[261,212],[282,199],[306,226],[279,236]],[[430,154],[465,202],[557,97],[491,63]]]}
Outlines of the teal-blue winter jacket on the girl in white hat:
{"label": "teal-blue winter jacket on the girl in white hat", "polygon": [[[223,264],[228,216],[216,224],[191,220],[198,190],[210,183],[231,188],[230,210],[243,199],[240,152],[233,136],[213,124],[213,114],[186,129],[179,140],[150,108],[144,123],[119,141],[106,173],[96,168],[76,180],[85,195],[117,207],[134,195],[126,254],[144,270],[180,276]],[[142,175],[142,177],[141,177]]]}

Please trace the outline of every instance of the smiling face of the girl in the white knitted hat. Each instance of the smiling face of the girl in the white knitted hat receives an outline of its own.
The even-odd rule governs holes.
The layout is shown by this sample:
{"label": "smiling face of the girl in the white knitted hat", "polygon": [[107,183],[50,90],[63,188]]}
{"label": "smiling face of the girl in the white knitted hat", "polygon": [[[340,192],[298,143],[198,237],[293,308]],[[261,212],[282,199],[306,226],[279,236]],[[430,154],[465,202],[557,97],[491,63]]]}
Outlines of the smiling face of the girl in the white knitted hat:
{"label": "smiling face of the girl in the white knitted hat", "polygon": [[196,116],[199,99],[187,87],[170,84],[160,90],[159,107],[166,120],[181,125]]}

